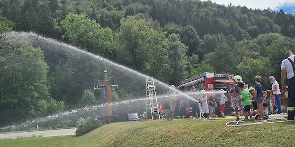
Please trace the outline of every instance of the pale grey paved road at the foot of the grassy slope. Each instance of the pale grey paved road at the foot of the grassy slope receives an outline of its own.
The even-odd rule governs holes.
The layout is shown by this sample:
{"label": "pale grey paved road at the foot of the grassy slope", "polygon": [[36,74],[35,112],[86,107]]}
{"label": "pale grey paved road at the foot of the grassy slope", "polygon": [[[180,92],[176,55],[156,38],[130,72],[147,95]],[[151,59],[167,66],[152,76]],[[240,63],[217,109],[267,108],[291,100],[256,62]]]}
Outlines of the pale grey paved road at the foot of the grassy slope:
{"label": "pale grey paved road at the foot of the grassy slope", "polygon": [[48,131],[33,131],[33,132],[22,132],[22,133],[6,133],[0,134],[0,139],[13,139],[19,137],[32,137],[32,136],[64,136],[74,135],[76,129],[60,129],[60,130],[48,130]]}

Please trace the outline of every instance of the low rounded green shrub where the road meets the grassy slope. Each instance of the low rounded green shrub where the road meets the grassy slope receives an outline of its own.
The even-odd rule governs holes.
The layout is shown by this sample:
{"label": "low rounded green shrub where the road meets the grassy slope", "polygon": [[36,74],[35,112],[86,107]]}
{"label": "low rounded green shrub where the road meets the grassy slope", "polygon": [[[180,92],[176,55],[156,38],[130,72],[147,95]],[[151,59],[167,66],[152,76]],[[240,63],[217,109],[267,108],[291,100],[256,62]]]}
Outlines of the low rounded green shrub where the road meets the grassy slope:
{"label": "low rounded green shrub where the road meets the grassy slope", "polygon": [[76,136],[81,136],[83,134],[88,133],[89,131],[99,127],[99,123],[96,123],[96,121],[93,118],[81,118],[78,121],[77,129],[76,129]]}

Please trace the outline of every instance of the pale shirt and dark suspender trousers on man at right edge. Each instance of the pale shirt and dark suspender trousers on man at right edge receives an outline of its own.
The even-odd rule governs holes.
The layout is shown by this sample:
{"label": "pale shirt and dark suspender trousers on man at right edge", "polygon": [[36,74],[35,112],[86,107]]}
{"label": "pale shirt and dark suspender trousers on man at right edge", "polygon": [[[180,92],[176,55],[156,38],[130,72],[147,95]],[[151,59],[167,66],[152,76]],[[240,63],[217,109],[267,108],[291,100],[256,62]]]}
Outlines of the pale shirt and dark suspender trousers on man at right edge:
{"label": "pale shirt and dark suspender trousers on man at right edge", "polygon": [[[289,56],[283,60],[281,69],[286,69],[288,78],[288,120],[294,120],[295,117],[295,55]],[[284,86],[284,85],[282,85]]]}

